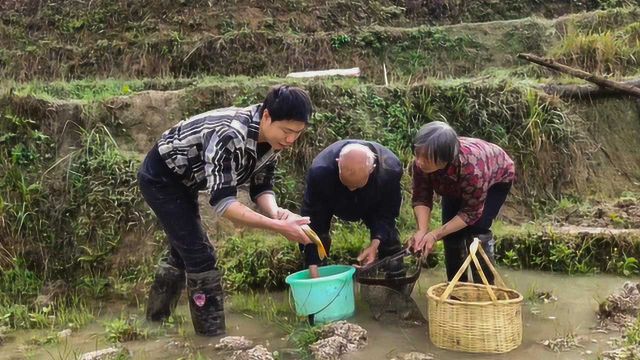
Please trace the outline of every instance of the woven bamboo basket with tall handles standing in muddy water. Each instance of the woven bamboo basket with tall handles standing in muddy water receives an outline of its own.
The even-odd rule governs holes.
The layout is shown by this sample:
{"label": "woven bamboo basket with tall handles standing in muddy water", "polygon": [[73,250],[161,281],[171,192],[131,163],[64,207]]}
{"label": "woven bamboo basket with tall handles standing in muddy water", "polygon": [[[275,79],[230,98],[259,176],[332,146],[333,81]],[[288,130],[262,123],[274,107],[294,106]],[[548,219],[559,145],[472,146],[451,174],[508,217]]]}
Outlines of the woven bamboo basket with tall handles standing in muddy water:
{"label": "woven bamboo basket with tall handles standing in muddy water", "polygon": [[[449,283],[429,288],[429,336],[437,347],[474,353],[505,353],[522,343],[522,295],[506,287],[479,241]],[[476,253],[480,250],[498,286],[489,285]],[[471,262],[483,284],[458,282]]]}

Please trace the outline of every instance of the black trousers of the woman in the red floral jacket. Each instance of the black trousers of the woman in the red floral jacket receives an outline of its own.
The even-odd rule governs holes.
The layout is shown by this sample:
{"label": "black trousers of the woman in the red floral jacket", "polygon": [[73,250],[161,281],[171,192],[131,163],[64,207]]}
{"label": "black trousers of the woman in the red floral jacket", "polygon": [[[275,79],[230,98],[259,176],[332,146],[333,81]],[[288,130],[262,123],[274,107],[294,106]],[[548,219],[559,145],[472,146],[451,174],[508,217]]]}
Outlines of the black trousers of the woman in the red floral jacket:
{"label": "black trousers of the woman in the red floral jacket", "polygon": [[[491,234],[491,224],[493,220],[498,216],[500,208],[507,199],[509,191],[511,190],[511,183],[498,183],[489,188],[487,192],[487,198],[484,202],[484,209],[482,210],[482,216],[473,225],[467,226],[462,230],[456,231],[444,237],[444,261],[447,268],[447,279],[452,280],[455,274],[462,266],[465,258],[468,254],[469,245],[473,241],[474,237],[478,237],[482,242],[482,247],[489,255],[490,259],[493,259],[493,248],[495,241]],[[449,220],[453,219],[460,207],[462,206],[462,200],[460,198],[443,196],[442,197],[442,223],[445,224]],[[482,257],[478,257],[482,266],[482,271],[487,276],[489,282],[493,283],[493,274],[491,274],[486,263]],[[475,271],[475,266],[471,265],[473,271],[473,277],[475,282],[480,282],[480,277]],[[467,281],[466,272],[460,278],[460,281]]]}

